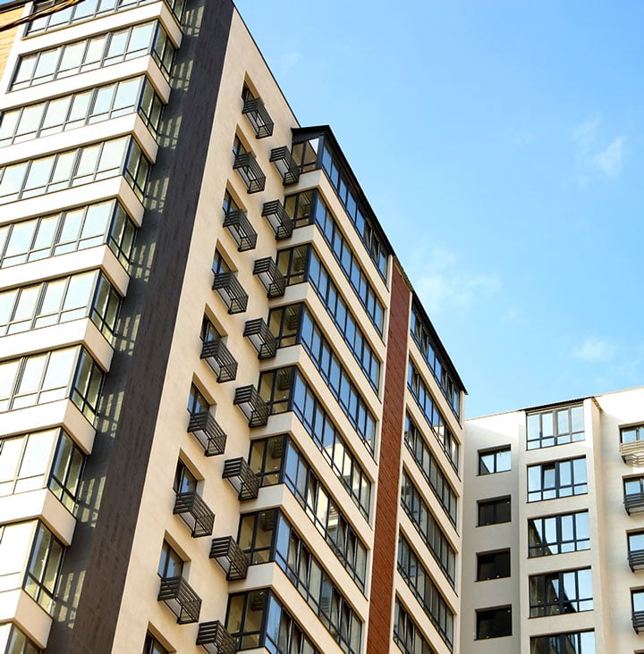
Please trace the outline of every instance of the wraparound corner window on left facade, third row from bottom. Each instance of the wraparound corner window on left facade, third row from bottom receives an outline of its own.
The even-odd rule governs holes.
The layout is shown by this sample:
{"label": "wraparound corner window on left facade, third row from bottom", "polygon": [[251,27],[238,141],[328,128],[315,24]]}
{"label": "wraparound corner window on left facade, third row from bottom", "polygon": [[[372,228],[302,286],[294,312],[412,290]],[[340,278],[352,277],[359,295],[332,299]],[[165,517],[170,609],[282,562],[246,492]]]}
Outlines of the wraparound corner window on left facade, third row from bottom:
{"label": "wraparound corner window on left facade, third row from bottom", "polygon": [[0,440],[0,497],[48,487],[72,511],[84,461],[62,429],[4,438]]}

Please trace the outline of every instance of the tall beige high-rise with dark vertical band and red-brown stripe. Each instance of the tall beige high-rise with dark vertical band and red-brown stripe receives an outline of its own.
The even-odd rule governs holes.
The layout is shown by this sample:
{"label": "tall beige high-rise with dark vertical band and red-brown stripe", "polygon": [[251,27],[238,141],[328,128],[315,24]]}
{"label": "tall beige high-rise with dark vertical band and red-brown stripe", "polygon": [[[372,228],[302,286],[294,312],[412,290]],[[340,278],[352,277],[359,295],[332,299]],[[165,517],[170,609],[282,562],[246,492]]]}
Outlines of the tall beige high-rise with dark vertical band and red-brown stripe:
{"label": "tall beige high-rise with dark vertical band and red-brown stripe", "polygon": [[0,68],[0,651],[458,652],[462,381],[232,2]]}

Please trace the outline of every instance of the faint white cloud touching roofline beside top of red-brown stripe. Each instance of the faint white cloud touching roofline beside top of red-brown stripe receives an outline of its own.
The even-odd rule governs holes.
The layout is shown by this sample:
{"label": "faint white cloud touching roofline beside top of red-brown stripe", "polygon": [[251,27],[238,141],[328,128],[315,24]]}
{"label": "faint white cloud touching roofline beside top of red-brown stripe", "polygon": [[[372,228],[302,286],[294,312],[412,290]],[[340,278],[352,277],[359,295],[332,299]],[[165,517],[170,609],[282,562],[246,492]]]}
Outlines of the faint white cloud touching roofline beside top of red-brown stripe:
{"label": "faint white cloud touching roofline beside top of red-brown stripe", "polygon": [[438,314],[450,307],[468,309],[495,295],[501,280],[494,272],[468,271],[455,253],[434,247],[423,259],[414,288],[429,314]]}

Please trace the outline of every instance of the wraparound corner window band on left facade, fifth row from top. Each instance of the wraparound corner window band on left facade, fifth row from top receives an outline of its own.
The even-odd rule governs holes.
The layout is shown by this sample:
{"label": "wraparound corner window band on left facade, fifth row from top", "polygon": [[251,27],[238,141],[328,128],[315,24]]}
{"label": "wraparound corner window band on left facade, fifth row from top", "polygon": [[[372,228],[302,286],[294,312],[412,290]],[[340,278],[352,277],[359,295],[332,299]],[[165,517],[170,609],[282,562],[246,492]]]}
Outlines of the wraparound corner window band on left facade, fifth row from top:
{"label": "wraparound corner window band on left facade, fifth row from top", "polygon": [[68,209],[0,227],[0,268],[108,245],[124,268],[136,227],[116,200]]}

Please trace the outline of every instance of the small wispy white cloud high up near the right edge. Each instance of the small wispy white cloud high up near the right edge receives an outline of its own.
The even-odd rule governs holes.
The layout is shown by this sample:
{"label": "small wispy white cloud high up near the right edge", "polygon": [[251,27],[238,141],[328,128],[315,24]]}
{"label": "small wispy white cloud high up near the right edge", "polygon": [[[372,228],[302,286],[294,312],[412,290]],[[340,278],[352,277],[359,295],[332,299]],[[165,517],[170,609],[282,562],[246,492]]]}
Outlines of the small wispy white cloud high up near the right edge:
{"label": "small wispy white cloud high up near the right edge", "polygon": [[581,185],[592,178],[615,178],[622,172],[625,138],[616,136],[606,143],[600,129],[601,119],[595,117],[572,130],[572,142],[577,148],[577,181]]}

